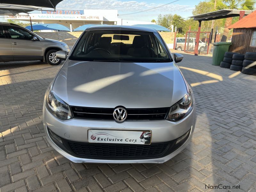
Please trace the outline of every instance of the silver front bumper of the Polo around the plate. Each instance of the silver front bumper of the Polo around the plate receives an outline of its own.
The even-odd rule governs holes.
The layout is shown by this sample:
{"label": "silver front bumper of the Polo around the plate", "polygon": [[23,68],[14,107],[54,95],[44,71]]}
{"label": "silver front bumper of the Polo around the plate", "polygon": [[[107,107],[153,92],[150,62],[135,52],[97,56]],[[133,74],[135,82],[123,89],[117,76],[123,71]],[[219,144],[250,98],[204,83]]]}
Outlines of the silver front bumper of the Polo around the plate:
{"label": "silver front bumper of the Polo around the plate", "polygon": [[[75,163],[164,163],[172,157],[178,155],[191,141],[196,121],[195,105],[192,112],[179,122],[171,122],[167,120],[154,120],[154,121],[125,121],[124,123],[116,123],[115,121],[104,120],[88,120],[88,119],[69,119],[60,120],[53,116],[44,105],[43,108],[43,124],[46,134],[46,139],[49,144],[58,151],[61,155],[68,158]],[[160,158],[91,158],[80,157],[69,153],[59,146],[56,141],[54,142],[50,136],[49,130],[54,132],[61,138],[72,142],[88,143],[87,132],[89,129],[96,130],[125,130],[125,131],[151,131],[152,144],[170,142],[180,138],[185,133],[188,133],[186,140],[181,146],[175,148],[171,153],[161,156]],[[69,136],[67,138],[66,136]],[[122,144],[118,144],[122,145]]]}

